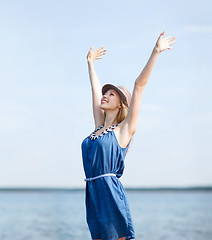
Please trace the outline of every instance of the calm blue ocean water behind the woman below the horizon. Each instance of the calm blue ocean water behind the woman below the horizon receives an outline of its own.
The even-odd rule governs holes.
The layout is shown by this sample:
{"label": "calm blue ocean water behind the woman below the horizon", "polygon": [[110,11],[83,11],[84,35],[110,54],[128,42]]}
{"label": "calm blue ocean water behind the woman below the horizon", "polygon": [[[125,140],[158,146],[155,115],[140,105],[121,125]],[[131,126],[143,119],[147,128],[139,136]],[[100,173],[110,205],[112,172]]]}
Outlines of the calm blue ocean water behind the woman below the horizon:
{"label": "calm blue ocean water behind the woman below the horizon", "polygon": [[[211,240],[212,192],[127,191],[139,240]],[[84,191],[0,192],[0,240],[87,240]]]}

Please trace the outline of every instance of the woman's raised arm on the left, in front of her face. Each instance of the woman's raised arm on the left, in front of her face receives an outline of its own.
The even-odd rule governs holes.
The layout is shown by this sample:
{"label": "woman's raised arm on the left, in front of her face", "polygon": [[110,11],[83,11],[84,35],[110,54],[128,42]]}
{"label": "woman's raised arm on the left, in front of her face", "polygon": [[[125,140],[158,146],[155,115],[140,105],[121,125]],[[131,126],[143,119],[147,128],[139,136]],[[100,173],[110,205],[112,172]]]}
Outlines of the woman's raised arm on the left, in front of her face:
{"label": "woman's raised arm on the left, in front of her face", "polygon": [[94,61],[97,59],[102,59],[102,56],[105,53],[106,50],[103,50],[103,47],[100,47],[97,50],[93,51],[92,46],[87,55],[88,71],[92,90],[93,116],[96,128],[103,124],[104,112],[100,108],[102,98],[102,87],[94,68]]}

